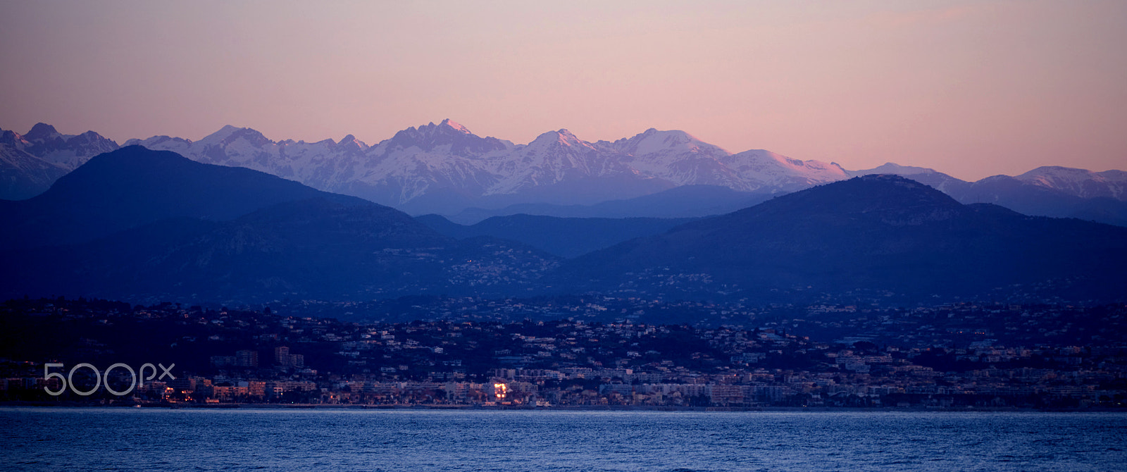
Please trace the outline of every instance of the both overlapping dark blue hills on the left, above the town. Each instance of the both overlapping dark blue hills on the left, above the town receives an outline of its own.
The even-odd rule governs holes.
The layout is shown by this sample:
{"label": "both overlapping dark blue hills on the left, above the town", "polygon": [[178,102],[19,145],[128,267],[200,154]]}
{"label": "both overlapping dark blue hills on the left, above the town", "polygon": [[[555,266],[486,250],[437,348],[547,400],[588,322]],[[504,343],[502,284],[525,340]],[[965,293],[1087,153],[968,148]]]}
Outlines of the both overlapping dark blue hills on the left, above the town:
{"label": "both overlapping dark blue hills on the left, above the town", "polygon": [[5,202],[0,297],[255,302],[517,292],[557,258],[250,169],[126,146]]}

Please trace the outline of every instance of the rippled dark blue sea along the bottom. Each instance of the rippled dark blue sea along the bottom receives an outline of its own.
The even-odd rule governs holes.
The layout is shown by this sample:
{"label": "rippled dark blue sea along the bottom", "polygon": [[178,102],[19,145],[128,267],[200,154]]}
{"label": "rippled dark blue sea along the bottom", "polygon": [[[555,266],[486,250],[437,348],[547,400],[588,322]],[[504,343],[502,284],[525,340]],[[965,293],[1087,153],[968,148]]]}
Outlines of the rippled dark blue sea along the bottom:
{"label": "rippled dark blue sea along the bottom", "polygon": [[14,471],[1121,471],[1127,413],[0,408]]}

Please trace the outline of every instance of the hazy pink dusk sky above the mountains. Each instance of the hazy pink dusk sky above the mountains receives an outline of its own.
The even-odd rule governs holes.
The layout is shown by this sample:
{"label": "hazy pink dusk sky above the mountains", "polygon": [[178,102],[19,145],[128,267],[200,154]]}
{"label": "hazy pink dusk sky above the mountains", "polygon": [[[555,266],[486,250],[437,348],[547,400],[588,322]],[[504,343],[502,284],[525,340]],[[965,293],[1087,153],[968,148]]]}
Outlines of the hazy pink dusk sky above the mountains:
{"label": "hazy pink dusk sky above the mountains", "polygon": [[684,130],[962,179],[1127,169],[1125,1],[0,0],[0,128]]}

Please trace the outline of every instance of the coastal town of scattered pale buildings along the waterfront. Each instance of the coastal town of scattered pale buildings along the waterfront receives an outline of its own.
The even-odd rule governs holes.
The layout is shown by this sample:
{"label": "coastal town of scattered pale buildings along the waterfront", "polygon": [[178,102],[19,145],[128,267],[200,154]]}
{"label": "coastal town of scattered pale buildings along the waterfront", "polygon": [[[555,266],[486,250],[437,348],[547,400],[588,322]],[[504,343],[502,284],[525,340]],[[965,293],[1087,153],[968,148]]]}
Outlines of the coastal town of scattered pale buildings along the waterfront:
{"label": "coastal town of scattered pale buildings along the waterfront", "polygon": [[[402,315],[426,321],[290,314],[298,311],[292,303],[228,310],[12,300],[0,304],[0,400],[373,408],[1127,406],[1125,305],[749,309],[595,295],[410,303],[419,304]],[[707,321],[651,323],[659,313]]]}

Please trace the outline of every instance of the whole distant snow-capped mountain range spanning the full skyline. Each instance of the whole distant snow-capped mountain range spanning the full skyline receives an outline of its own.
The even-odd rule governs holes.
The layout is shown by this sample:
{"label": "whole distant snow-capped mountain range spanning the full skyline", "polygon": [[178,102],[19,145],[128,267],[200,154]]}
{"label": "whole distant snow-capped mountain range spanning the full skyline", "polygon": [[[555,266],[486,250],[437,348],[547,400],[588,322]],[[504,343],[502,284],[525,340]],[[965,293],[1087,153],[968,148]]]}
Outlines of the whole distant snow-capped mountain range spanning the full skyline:
{"label": "whole distant snow-capped mountain range spanning the full skyline", "polygon": [[[654,128],[613,142],[588,142],[559,130],[527,144],[514,144],[478,136],[445,119],[409,127],[374,145],[353,135],[340,141],[273,141],[236,126],[224,126],[198,141],[152,136],[125,143],[134,144],[204,163],[260,170],[414,214],[514,204],[593,205],[682,186],[777,195],[870,173],[905,176],[962,203],[997,203],[1030,214],[1072,216],[1081,201],[1127,202],[1127,172],[1121,170],[1041,167],[1017,177],[968,182],[933,169],[895,163],[851,171],[837,163],[790,159],[765,150],[730,153],[683,131]],[[95,132],[63,135],[42,123],[25,135],[3,131],[0,197],[27,198],[90,157],[114,149],[115,142]],[[35,185],[26,185],[32,180]],[[1046,204],[1046,199],[1051,202]],[[1102,206],[1092,211],[1108,213]],[[1111,212],[1127,219],[1127,210],[1116,206]]]}

